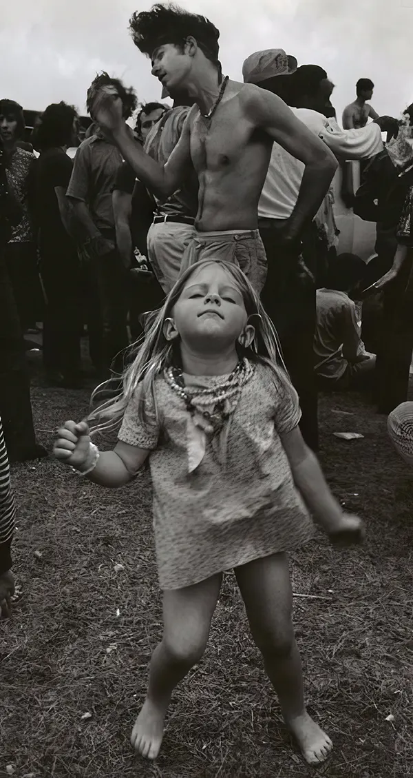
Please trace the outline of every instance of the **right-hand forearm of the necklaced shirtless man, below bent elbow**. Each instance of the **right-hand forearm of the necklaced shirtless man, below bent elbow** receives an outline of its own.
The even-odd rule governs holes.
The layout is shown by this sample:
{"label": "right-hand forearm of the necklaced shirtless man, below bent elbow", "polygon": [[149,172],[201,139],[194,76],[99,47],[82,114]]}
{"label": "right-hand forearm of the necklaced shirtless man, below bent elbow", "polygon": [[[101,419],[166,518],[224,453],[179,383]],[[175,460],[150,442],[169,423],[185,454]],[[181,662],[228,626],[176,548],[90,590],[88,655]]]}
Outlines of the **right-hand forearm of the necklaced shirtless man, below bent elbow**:
{"label": "right-hand forearm of the necklaced shirtless man, below bent elbow", "polygon": [[332,155],[331,159],[326,159],[324,163],[306,165],[296,206],[289,217],[290,231],[295,237],[299,237],[306,223],[316,216],[327,195],[337,166]]}

